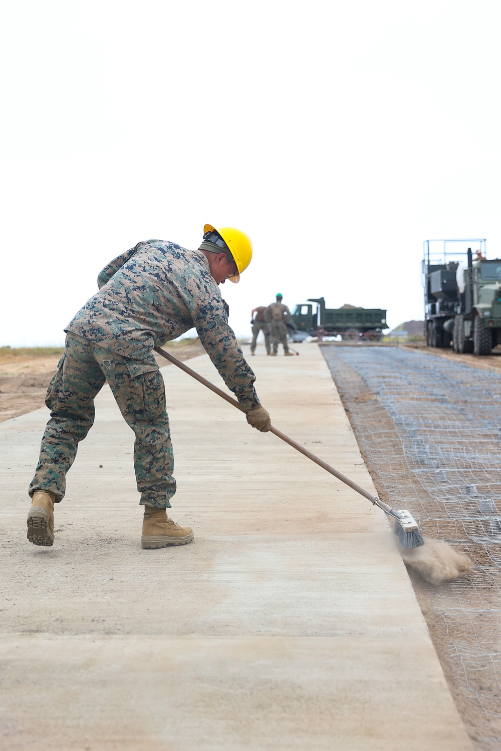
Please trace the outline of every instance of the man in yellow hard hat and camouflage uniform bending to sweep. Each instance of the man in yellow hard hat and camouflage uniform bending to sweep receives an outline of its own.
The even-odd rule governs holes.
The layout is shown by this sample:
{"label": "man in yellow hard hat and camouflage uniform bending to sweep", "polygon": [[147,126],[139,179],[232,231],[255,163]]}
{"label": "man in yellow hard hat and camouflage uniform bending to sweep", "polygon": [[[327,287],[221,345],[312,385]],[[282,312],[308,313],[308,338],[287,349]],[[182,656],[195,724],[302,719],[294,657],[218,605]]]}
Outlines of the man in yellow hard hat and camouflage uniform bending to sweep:
{"label": "man in yellow hard hat and camouflage uniform bending to sweep", "polygon": [[225,384],[246,410],[247,422],[262,432],[270,430],[270,415],[258,400],[255,375],[228,324],[228,306],[219,290],[226,279],[238,282],[251,258],[246,234],[205,225],[198,250],[147,240],[101,271],[99,291],[65,328],[65,351],[47,390],[50,420],[29,486],[29,541],[53,544],[54,503],[65,496],[66,473],[92,427],[94,399],[105,382],[136,436],[142,547],[192,541],[192,529],[179,526],[166,512],[176,492],[174,454],[164,379],[152,348],[195,326]]}

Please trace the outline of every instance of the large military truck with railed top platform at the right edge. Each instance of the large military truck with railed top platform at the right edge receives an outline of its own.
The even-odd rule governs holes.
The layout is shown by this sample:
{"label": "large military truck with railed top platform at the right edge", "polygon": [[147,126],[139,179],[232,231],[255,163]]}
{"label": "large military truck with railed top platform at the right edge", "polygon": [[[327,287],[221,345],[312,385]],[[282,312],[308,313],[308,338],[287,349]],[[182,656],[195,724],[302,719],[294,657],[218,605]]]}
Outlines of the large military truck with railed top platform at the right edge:
{"label": "large military truck with railed top platform at the right edge", "polygon": [[424,240],[421,273],[427,346],[490,354],[501,343],[501,259],[487,260],[486,241]]}

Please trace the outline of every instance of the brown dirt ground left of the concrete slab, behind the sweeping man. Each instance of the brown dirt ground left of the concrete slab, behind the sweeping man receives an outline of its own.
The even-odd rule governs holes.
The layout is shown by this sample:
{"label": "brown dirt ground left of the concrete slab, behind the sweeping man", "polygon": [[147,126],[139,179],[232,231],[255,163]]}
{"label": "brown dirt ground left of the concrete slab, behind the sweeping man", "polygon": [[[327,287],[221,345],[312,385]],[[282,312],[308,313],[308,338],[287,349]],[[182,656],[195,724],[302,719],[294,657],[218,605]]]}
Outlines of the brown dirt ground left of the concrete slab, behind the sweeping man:
{"label": "brown dirt ground left of the concrete slab, behind the sweeping man", "polygon": [[[199,339],[181,339],[165,346],[179,360],[204,354]],[[62,348],[0,348],[0,422],[44,406],[50,379],[57,369]],[[156,355],[161,367],[170,365]]]}

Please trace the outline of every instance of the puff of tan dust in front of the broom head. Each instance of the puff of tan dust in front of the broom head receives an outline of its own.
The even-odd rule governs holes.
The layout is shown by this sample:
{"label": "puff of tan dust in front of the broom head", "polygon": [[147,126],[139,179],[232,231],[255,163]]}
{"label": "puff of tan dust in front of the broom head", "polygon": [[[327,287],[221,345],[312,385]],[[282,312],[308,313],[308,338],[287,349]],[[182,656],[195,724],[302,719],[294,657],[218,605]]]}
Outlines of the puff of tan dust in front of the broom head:
{"label": "puff of tan dust in front of the broom head", "polygon": [[400,555],[407,566],[412,566],[431,584],[457,579],[461,574],[473,572],[472,561],[465,553],[454,550],[442,540],[424,538],[424,545],[406,550],[399,544]]}

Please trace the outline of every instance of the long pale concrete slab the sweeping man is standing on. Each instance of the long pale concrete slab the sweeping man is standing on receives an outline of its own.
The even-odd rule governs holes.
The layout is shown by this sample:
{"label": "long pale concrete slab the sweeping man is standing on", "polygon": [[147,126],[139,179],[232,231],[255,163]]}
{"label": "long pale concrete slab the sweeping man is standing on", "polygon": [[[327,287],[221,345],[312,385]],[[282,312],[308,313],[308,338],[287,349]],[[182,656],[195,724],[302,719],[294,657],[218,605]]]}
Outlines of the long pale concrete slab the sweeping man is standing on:
{"label": "long pale concrete slab the sweeping man is standing on", "polygon": [[[316,345],[252,366],[274,424],[372,484]],[[190,364],[221,385],[210,360]],[[164,369],[191,545],[140,549],[133,435],[105,388],[26,541],[45,409],[0,426],[5,749],[470,749],[377,509]]]}

